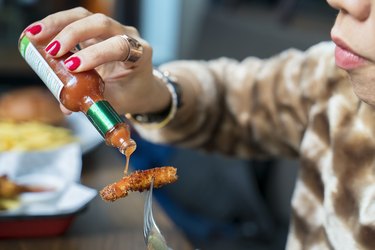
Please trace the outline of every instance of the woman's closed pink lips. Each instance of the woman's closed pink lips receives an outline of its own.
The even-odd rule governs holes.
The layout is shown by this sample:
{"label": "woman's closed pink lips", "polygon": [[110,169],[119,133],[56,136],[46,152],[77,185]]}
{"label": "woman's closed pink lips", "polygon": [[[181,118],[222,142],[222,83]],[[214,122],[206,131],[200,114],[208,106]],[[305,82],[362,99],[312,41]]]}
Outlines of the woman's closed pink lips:
{"label": "woman's closed pink lips", "polygon": [[343,41],[338,38],[332,38],[336,44],[335,60],[336,65],[345,70],[353,70],[361,67],[366,60],[355,54]]}

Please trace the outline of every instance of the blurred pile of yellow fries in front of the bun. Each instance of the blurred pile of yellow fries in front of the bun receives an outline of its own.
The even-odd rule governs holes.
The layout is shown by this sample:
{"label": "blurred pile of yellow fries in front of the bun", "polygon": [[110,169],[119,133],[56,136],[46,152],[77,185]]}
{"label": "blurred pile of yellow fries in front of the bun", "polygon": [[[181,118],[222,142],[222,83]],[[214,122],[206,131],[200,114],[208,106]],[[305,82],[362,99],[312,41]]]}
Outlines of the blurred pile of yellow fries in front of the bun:
{"label": "blurred pile of yellow fries in front of the bun", "polygon": [[76,141],[72,131],[40,122],[1,122],[0,152],[48,150]]}

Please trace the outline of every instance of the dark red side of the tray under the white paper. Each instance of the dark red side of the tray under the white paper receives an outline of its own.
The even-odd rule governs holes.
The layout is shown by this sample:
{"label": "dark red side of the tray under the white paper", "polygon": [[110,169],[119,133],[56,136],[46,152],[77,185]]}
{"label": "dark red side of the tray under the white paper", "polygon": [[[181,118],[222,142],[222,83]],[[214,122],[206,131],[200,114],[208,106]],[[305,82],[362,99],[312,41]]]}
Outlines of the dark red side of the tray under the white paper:
{"label": "dark red side of the tray under the white paper", "polygon": [[0,216],[0,238],[51,237],[65,233],[80,210],[59,215]]}

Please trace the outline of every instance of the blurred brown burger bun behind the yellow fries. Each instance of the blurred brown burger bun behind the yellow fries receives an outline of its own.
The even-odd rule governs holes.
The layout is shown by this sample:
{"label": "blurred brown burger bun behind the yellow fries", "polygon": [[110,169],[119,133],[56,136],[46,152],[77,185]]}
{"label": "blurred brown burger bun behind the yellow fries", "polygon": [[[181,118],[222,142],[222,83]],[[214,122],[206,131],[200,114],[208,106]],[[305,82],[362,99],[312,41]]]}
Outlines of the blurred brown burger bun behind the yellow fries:
{"label": "blurred brown burger bun behind the yellow fries", "polygon": [[0,96],[0,121],[38,121],[61,125],[64,114],[58,101],[45,88],[25,87]]}

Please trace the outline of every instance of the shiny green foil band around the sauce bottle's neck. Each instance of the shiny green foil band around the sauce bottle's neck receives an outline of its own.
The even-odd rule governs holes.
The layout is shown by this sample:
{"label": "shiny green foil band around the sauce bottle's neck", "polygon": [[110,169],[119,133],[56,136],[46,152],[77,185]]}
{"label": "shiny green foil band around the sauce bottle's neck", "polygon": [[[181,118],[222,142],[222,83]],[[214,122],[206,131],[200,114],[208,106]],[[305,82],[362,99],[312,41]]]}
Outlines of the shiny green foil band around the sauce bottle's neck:
{"label": "shiny green foil band around the sauce bottle's neck", "polygon": [[87,111],[86,116],[103,137],[114,126],[123,122],[107,101],[94,103]]}

